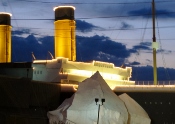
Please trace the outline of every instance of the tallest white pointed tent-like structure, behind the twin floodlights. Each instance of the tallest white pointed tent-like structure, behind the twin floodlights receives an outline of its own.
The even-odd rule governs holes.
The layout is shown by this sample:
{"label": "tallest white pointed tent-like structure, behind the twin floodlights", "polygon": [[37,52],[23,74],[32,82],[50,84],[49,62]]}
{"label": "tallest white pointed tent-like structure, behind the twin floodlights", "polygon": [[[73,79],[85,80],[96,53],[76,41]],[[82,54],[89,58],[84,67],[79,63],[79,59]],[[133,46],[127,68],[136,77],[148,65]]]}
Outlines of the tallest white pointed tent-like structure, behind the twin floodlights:
{"label": "tallest white pointed tent-like structure, behind the twin floodlights", "polygon": [[[96,98],[99,99],[97,104]],[[105,99],[103,105],[102,99]],[[96,72],[79,83],[77,92],[71,98],[66,99],[56,110],[49,111],[48,118],[50,124],[97,124],[97,121],[99,124],[128,124],[128,110],[125,102]]]}

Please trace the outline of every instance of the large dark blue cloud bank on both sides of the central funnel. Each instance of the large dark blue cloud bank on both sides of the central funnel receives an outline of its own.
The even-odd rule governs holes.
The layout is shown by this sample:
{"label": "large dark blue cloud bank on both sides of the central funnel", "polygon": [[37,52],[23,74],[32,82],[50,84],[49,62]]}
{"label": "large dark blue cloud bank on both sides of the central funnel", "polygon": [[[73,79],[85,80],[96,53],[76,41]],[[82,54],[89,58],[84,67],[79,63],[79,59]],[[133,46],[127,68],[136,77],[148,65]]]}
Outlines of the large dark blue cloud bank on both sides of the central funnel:
{"label": "large dark blue cloud bank on both sides of the central funnel", "polygon": [[[113,62],[120,66],[130,56],[131,51],[126,49],[122,43],[114,42],[108,37],[77,36],[77,61],[105,61]],[[32,52],[36,59],[50,59],[48,51],[54,55],[54,37],[46,36],[36,38],[34,35],[28,37],[12,36],[12,61],[32,61]]]}

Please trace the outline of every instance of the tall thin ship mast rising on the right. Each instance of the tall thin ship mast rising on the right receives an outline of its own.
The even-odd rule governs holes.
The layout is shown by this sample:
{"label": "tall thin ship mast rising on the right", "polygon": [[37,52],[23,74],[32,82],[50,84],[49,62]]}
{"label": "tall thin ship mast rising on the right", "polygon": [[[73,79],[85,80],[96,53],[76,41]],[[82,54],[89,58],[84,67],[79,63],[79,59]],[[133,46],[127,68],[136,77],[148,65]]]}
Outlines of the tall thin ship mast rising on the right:
{"label": "tall thin ship mast rising on the right", "polygon": [[157,62],[156,62],[156,31],[155,31],[155,2],[152,0],[152,22],[153,22],[153,76],[154,76],[154,85],[157,85]]}

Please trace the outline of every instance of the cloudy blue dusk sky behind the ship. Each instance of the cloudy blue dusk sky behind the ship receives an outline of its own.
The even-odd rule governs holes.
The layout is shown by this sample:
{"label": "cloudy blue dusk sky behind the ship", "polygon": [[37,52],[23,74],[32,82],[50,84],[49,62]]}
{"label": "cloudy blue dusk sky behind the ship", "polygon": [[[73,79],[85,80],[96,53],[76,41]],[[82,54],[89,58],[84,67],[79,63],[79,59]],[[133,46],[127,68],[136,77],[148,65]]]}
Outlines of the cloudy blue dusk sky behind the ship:
{"label": "cloudy blue dusk sky behind the ship", "polygon": [[[75,6],[77,61],[152,66],[152,0],[1,0],[12,14],[13,61],[53,53],[56,6]],[[155,0],[157,66],[175,69],[175,0]]]}

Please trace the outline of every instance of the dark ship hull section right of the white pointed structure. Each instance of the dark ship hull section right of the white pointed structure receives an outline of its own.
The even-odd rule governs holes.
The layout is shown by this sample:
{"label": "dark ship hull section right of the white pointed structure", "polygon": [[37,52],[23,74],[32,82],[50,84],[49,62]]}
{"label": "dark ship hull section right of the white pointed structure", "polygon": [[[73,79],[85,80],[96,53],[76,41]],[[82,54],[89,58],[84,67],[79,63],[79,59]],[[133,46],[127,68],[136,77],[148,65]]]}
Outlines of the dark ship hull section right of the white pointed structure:
{"label": "dark ship hull section right of the white pointed structure", "polygon": [[175,92],[126,93],[148,113],[151,124],[175,124]]}

